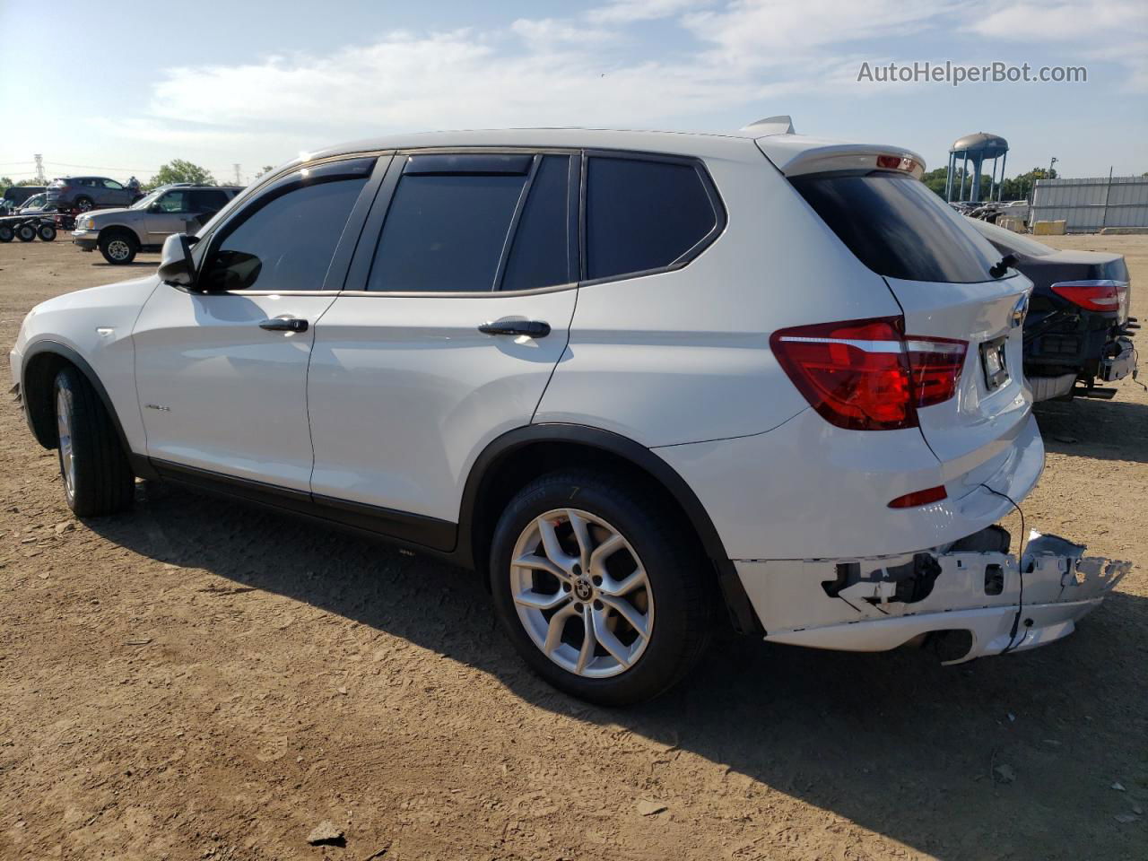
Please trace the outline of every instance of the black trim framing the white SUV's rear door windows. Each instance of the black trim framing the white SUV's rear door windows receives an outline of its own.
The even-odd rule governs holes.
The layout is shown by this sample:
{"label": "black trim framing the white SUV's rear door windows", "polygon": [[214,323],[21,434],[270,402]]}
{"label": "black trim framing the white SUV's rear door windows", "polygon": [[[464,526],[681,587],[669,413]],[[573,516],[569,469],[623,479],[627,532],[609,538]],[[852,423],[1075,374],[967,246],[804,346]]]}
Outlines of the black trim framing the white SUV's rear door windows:
{"label": "black trim framing the white SUV's rear door windows", "polygon": [[[530,172],[527,174],[527,181],[523,186],[522,193],[519,195],[518,203],[515,204],[514,215],[511,217],[511,224],[506,231],[506,240],[503,243],[502,255],[498,259],[498,266],[496,269],[496,276],[491,288],[489,290],[369,290],[365,289],[365,285],[370,282],[371,270],[374,265],[374,255],[378,250],[378,245],[382,241],[382,228],[386,224],[386,217],[390,210],[390,204],[395,199],[395,191],[398,187],[398,181],[403,177],[404,170],[406,168],[406,162],[409,158],[420,155],[528,155],[534,158],[530,165]],[[502,286],[503,277],[506,271],[507,255],[513,248],[513,240],[518,232],[519,220],[521,218],[522,210],[526,205],[527,192],[530,185],[534,183],[534,177],[542,164],[542,157],[546,155],[565,155],[569,156],[571,160],[571,187],[573,188],[577,181],[577,177],[581,174],[581,161],[580,156],[582,150],[577,147],[530,147],[530,146],[447,146],[447,147],[425,147],[425,148],[403,148],[395,150],[394,160],[391,161],[390,169],[387,171],[387,176],[382,181],[382,187],[375,199],[374,205],[371,209],[366,222],[363,225],[362,235],[369,238],[366,241],[360,243],[359,249],[356,251],[355,259],[351,262],[350,267],[347,271],[343,287],[340,290],[340,295],[346,296],[386,296],[393,298],[482,298],[489,296],[533,296],[537,293],[557,293],[559,290],[573,290],[577,289],[580,286],[581,274],[580,264],[574,262],[575,255],[579,254],[579,242],[571,241],[569,233],[572,230],[576,228],[576,224],[581,222],[579,219],[579,207],[580,201],[571,194],[567,194],[567,278],[569,281],[565,284],[556,284],[549,287],[530,287],[521,290],[503,290],[499,289]],[[468,172],[468,171],[463,171]],[[370,238],[374,238],[372,243]],[[347,284],[362,284],[364,289],[346,289]]]}

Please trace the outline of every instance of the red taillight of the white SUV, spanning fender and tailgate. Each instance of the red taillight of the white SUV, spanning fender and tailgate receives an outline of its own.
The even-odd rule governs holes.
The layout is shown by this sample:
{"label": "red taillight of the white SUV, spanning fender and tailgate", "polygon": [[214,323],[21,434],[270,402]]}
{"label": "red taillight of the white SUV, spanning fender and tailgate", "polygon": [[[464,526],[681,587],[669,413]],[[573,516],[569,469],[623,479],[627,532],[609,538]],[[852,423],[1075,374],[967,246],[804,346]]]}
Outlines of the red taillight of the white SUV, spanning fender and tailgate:
{"label": "red taillight of the white SUV, spanning fender and tailgate", "polygon": [[917,426],[917,408],[956,393],[965,341],[905,335],[901,317],[778,329],[769,346],[809,404],[837,427]]}

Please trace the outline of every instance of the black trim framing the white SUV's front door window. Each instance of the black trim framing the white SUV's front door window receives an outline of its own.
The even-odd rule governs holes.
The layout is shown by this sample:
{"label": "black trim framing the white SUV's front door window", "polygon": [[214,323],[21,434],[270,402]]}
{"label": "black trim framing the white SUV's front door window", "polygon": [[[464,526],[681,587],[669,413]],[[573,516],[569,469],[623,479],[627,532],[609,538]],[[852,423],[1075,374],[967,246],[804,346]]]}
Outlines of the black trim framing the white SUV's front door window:
{"label": "black trim framing the white SUV's front door window", "polygon": [[[327,274],[324,278],[323,288],[316,290],[200,290],[199,280],[202,274],[203,263],[209,259],[211,254],[218,249],[223,241],[231,235],[243,222],[249,217],[263,209],[264,205],[270,203],[276,197],[279,197],[288,192],[293,192],[297,188],[303,187],[304,177],[303,171],[312,171],[319,168],[326,168],[328,165],[335,165],[340,162],[358,162],[364,160],[374,160],[374,164],[369,171],[366,171],[366,184],[359,192],[358,199],[351,207],[351,211],[347,217],[347,224],[343,227],[343,232],[339,238],[339,242],[335,245],[335,253],[332,256],[331,265],[327,267]],[[331,158],[323,158],[315,162],[305,162],[302,164],[294,165],[293,170],[284,173],[278,173],[273,181],[262,184],[261,187],[249,195],[243,195],[243,201],[241,204],[236,204],[235,208],[227,214],[227,217],[217,225],[214,225],[211,231],[200,238],[200,241],[195,245],[196,266],[195,266],[195,285],[192,287],[181,287],[178,285],[172,285],[176,289],[181,289],[186,293],[196,293],[204,296],[336,296],[340,293],[340,287],[343,279],[347,277],[347,271],[350,262],[355,255],[356,247],[358,245],[362,231],[364,228],[364,223],[367,218],[369,208],[373,204],[375,196],[382,186],[383,179],[387,176],[394,158],[390,152],[372,152],[372,153],[351,153],[346,155],[339,155]],[[325,178],[324,181],[339,181],[340,179],[350,179],[357,176],[363,176],[358,172],[347,172],[347,173],[333,173],[329,178]],[[228,203],[234,202],[240,197],[241,193],[236,193]],[[203,248],[203,251],[200,251]],[[332,285],[332,286],[328,286]],[[338,286],[334,286],[338,285]]]}

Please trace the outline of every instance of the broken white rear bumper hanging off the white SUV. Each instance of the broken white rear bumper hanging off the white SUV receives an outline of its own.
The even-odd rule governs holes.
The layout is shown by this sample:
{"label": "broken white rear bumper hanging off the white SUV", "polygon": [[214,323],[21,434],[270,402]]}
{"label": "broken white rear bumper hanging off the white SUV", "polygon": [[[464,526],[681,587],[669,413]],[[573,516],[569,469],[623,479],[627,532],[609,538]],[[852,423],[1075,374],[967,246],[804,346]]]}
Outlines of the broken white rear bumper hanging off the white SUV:
{"label": "broken white rear bumper hanging off the white SUV", "polygon": [[945,662],[957,664],[1071,634],[1131,567],[1084,551],[1033,532],[1019,563],[1004,551],[949,549],[735,565],[770,642],[876,652],[954,633]]}

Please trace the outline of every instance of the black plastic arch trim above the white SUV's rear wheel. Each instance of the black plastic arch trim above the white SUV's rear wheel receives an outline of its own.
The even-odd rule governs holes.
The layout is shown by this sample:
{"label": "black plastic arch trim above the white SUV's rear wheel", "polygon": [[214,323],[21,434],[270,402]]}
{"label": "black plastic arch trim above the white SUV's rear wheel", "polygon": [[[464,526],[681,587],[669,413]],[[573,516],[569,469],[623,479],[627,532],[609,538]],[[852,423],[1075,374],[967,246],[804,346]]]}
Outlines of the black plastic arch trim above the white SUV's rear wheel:
{"label": "black plastic arch trim above the white SUV's rear wheel", "polygon": [[645,488],[681,518],[715,571],[736,630],[761,631],[713,521],[685,480],[646,447],[583,425],[530,425],[503,434],[478,457],[463,492],[457,553],[489,583],[490,542],[502,511],[522,487],[556,470],[583,467]]}

